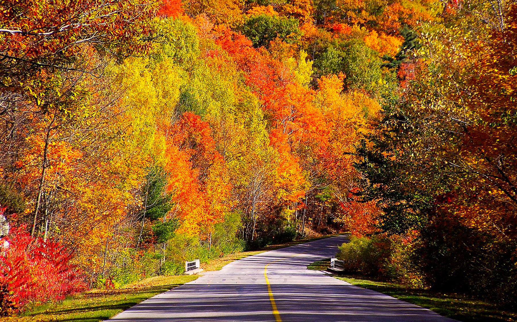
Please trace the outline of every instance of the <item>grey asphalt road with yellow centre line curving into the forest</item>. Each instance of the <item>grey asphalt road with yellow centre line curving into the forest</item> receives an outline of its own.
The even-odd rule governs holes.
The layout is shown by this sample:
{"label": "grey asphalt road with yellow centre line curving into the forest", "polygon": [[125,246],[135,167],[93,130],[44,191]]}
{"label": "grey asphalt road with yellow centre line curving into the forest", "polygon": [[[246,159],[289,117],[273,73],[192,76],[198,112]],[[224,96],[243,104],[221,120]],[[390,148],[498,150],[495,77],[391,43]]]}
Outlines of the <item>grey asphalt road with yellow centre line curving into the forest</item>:
{"label": "grey asphalt road with yellow centre line curving into the forest", "polygon": [[345,240],[344,236],[331,237],[234,261],[110,321],[454,321],[324,272],[307,270],[312,262],[336,255],[337,245]]}

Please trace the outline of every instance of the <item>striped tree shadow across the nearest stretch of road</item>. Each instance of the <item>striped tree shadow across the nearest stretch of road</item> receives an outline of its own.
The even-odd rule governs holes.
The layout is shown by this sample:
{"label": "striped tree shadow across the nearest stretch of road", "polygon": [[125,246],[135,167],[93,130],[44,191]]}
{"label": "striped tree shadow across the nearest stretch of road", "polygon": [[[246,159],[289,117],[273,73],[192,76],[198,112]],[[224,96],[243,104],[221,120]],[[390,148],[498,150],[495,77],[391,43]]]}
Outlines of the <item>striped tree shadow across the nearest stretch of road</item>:
{"label": "striped tree shadow across the nearest stretch of road", "polygon": [[[133,306],[118,322],[274,321],[266,285],[185,285]],[[272,285],[283,321],[451,321],[352,285]],[[180,295],[180,296],[179,296]],[[201,296],[202,295],[202,296]],[[130,313],[125,317],[126,313]]]}

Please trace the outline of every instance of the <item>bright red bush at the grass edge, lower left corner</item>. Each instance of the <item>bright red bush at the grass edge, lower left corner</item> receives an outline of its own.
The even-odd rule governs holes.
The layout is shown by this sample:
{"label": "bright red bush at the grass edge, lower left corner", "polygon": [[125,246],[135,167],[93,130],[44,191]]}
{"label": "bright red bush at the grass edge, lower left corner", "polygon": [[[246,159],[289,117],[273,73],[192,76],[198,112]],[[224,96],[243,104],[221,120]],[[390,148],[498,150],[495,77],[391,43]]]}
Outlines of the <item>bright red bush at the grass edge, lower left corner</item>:
{"label": "bright red bush at the grass edge, lower left corner", "polygon": [[70,264],[72,253],[53,240],[31,237],[25,228],[11,227],[0,240],[0,285],[7,286],[9,300],[22,308],[85,290],[81,274]]}

